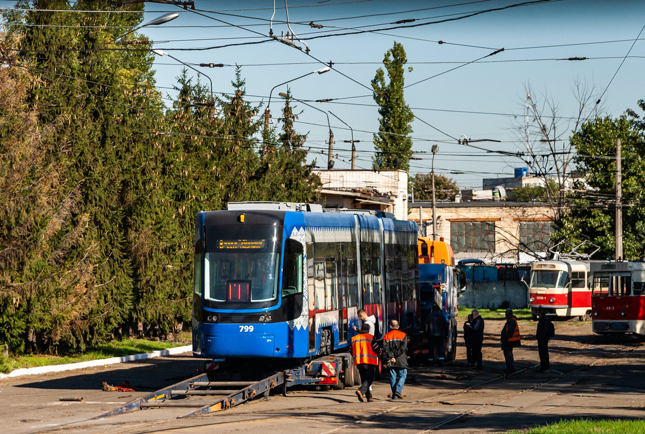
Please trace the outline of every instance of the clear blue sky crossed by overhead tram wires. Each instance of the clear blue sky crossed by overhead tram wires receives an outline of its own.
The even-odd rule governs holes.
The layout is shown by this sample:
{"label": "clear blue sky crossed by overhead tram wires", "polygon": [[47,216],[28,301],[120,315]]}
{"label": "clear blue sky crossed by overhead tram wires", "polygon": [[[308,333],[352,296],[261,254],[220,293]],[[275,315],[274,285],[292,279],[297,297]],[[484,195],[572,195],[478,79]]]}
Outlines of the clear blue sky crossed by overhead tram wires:
{"label": "clear blue sky crossed by overhead tram wires", "polygon": [[[417,20],[408,25],[427,23],[445,19],[448,15],[456,17],[466,12],[517,3],[522,2],[287,2],[292,29],[301,37],[324,34],[317,32],[345,33],[347,30],[342,30],[343,28],[360,26],[371,26],[371,29],[390,27],[397,25],[392,23],[402,19]],[[272,1],[269,0],[227,3],[195,1],[197,9],[220,12],[202,13],[229,23],[226,24],[173,6],[148,4],[146,20],[171,10],[177,10],[180,16],[162,26],[146,27],[142,32],[155,41],[155,48],[164,50],[181,61],[190,64],[213,62],[233,65],[224,68],[197,66],[197,69],[203,70],[213,80],[215,93],[230,92],[230,82],[234,79],[234,65],[243,65],[246,91],[250,95],[248,99],[253,102],[266,102],[271,88],[276,84],[323,67],[323,64],[317,63],[315,59],[335,62],[335,71],[323,75],[308,75],[291,82],[288,86],[295,98],[308,102],[316,99],[340,99],[309,104],[333,111],[353,127],[355,140],[361,140],[357,144],[359,168],[371,167],[374,151],[372,134],[378,129],[377,106],[368,88],[375,71],[381,66],[384,53],[392,48],[393,41],[404,45],[408,66],[413,67],[412,72],[406,72],[406,84],[432,77],[504,48],[504,52],[483,59],[494,62],[467,64],[406,89],[406,101],[413,108],[415,115],[441,130],[437,131],[419,120],[413,122],[413,150],[418,152],[417,157],[424,159],[413,161],[410,172],[430,172],[429,156],[422,152],[430,154],[430,147],[439,144],[439,153],[435,157],[436,171],[455,178],[462,188],[480,186],[481,178],[510,175],[513,173],[513,167],[521,166],[522,162],[513,156],[485,153],[460,146],[455,138],[466,135],[471,139],[491,138],[502,141],[478,144],[491,150],[515,152],[526,149],[526,144],[519,141],[517,131],[513,130],[514,124],[524,123],[524,86],[530,84],[534,90],[534,98],[542,94],[552,98],[559,106],[559,115],[575,115],[577,102],[571,92],[575,82],[595,86],[597,95],[600,95],[630,50],[633,39],[645,25],[645,8],[639,1],[560,0],[487,12],[447,23],[306,41],[311,50],[310,55],[315,59],[301,50],[276,41],[199,51],[177,50],[266,39],[257,33],[268,34],[269,23],[266,20],[271,18],[272,5]],[[286,20],[284,0],[277,0],[276,8],[274,19],[281,22],[273,23],[273,32],[279,35],[289,30],[283,23]],[[413,12],[395,14],[402,11]],[[366,16],[375,14],[383,15]],[[348,17],[357,18],[342,19]],[[317,30],[303,25],[311,21],[325,27]],[[640,38],[644,40],[635,42],[630,57],[622,64],[602,98],[601,114],[619,116],[627,108],[636,108],[637,100],[645,98],[642,80],[645,65],[645,32]],[[452,44],[438,44],[436,41],[440,40]],[[617,40],[628,41],[606,42]],[[566,44],[581,45],[562,46]],[[527,48],[537,46],[551,47]],[[590,59],[552,60],[569,57]],[[609,58],[598,59],[600,57]],[[171,90],[165,88],[173,86],[175,77],[179,75],[183,66],[168,57],[157,57],[155,68],[157,84],[164,92],[172,94]],[[193,73],[190,70],[189,72]],[[273,91],[271,109],[274,117],[280,108],[277,93],[286,91],[286,87],[284,85]],[[298,128],[300,131],[309,132],[307,144],[312,147],[310,156],[317,159],[319,166],[326,167],[326,155],[316,153],[325,152],[327,146],[324,143],[328,137],[327,119],[320,111],[303,104],[300,104],[299,108],[303,109],[303,113],[299,118]],[[517,118],[513,115],[517,115]],[[342,143],[342,140],[350,139],[350,131],[333,116],[330,116],[330,121],[337,140],[334,153],[338,153],[339,156],[335,168],[348,168],[350,145]]]}

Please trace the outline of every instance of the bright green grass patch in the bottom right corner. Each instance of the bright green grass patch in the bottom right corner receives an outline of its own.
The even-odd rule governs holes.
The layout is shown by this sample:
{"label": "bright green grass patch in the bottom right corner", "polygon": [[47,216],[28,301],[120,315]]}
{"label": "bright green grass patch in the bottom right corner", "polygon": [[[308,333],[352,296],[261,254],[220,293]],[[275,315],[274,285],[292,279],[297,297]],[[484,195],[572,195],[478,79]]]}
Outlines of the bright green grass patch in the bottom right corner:
{"label": "bright green grass patch in the bottom right corner", "polygon": [[645,420],[566,420],[546,426],[508,434],[641,434],[645,433]]}

